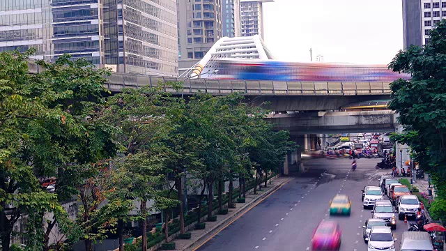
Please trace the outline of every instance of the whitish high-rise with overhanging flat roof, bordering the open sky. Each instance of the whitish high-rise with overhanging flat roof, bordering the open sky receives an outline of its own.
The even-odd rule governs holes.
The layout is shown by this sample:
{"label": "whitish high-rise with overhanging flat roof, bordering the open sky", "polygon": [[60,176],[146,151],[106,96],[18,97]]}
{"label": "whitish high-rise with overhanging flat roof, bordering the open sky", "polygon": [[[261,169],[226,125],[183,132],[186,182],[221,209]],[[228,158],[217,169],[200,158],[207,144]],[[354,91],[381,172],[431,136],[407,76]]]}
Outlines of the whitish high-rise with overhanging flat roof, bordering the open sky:
{"label": "whitish high-rise with overhanging flat roof, bordering the open sky", "polygon": [[263,3],[274,0],[241,0],[242,36],[259,35],[263,40]]}

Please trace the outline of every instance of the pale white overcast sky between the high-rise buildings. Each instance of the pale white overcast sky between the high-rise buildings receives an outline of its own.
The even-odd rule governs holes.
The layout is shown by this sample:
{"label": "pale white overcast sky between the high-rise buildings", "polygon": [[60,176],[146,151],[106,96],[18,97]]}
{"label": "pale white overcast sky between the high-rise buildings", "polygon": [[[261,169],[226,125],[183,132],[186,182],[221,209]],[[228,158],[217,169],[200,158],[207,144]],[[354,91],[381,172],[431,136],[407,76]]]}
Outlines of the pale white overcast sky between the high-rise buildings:
{"label": "pale white overcast sky between the high-rise buildings", "polygon": [[387,64],[403,49],[401,0],[263,3],[264,40],[276,59]]}

